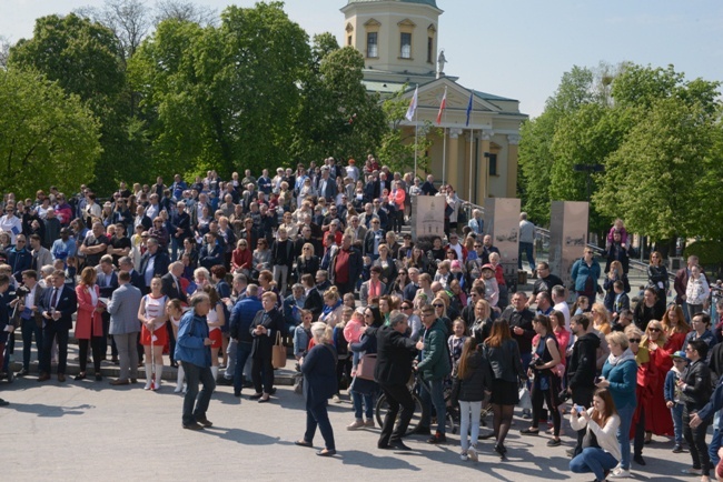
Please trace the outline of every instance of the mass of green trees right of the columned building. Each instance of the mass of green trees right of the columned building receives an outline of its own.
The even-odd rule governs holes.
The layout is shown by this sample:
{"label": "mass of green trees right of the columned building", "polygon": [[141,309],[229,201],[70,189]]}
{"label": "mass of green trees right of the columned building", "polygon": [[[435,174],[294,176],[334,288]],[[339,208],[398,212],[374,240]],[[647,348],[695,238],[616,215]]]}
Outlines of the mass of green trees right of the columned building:
{"label": "mass of green trees right of the columned building", "polygon": [[722,112],[720,82],[686,80],[672,66],[575,67],[522,129],[524,207],[547,221],[552,200],[586,200],[588,174],[574,167],[602,164],[590,174],[593,231],[623,218],[658,241],[721,238],[709,193],[721,175]]}

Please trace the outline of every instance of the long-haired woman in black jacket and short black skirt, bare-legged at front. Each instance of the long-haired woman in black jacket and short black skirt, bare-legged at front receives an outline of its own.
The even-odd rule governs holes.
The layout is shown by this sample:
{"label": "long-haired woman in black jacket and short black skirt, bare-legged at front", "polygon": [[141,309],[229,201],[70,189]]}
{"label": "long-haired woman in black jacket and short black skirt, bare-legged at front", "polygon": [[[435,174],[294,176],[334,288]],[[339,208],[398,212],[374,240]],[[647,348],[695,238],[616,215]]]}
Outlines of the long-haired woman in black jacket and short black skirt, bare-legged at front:
{"label": "long-haired woman in black jacket and short black skirt, bare-legged at front", "polygon": [[527,375],[519,360],[519,348],[509,334],[509,325],[504,320],[492,324],[492,332],[483,344],[483,354],[489,362],[494,379],[492,381],[492,411],[494,414],[495,452],[505,459],[505,438],[512,425],[512,414],[519,402],[519,380]]}

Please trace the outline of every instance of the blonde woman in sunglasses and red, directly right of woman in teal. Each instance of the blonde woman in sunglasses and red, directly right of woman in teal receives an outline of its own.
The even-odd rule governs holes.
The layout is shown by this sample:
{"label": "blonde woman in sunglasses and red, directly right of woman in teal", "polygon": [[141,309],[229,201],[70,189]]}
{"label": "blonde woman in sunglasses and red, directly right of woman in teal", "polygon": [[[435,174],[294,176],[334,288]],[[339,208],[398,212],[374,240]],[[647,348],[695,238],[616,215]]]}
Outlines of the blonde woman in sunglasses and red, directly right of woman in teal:
{"label": "blonde woman in sunglasses and red, directly right of woman in teal", "polygon": [[[655,365],[651,362],[650,351],[647,347],[642,345],[645,340],[643,332],[635,325],[628,325],[625,329],[625,337],[630,349],[635,355],[637,363],[637,384],[635,385],[635,396],[637,399],[637,406],[633,413],[633,421],[630,429],[630,438],[634,440],[633,443],[633,460],[638,465],[645,465],[643,459],[643,445],[645,444],[645,423],[650,421],[651,402],[653,392],[650,386],[655,382]],[[647,441],[650,443],[650,441]]]}

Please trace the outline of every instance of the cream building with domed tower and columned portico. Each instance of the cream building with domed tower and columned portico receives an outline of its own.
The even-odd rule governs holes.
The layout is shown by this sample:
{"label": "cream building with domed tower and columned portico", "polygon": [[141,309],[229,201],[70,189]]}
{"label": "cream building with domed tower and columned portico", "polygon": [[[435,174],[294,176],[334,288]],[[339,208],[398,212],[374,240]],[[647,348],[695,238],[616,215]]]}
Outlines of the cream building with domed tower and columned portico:
{"label": "cream building with domed tower and columned portico", "polygon": [[[444,137],[429,133],[430,172],[450,183],[459,197],[476,204],[484,199],[517,195],[517,145],[519,127],[527,116],[519,101],[484,91],[484,86],[463,86],[447,59],[444,44],[444,11],[437,0],[348,0],[344,13],[344,46],[356,48],[365,59],[367,91],[390,97],[406,86],[412,100],[418,86],[417,122],[435,127],[439,104],[447,90],[446,113],[438,125]],[[449,8],[463,8],[448,2]],[[484,62],[475,52],[465,59]],[[457,60],[459,61],[459,60]],[[472,82],[472,79],[465,83]],[[479,82],[475,80],[475,82]],[[482,89],[482,90],[478,90]],[[473,107],[467,122],[467,106]],[[414,121],[402,129],[412,132]],[[406,135],[409,138],[409,135]],[[419,174],[424,174],[419,172]]]}

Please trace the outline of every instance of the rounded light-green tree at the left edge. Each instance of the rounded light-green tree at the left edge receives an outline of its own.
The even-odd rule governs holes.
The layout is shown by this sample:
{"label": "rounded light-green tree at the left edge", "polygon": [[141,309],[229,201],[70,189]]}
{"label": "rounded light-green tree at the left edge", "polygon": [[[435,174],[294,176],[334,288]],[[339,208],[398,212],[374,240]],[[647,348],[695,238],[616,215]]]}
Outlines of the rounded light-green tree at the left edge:
{"label": "rounded light-green tree at the left edge", "polygon": [[78,96],[38,72],[0,69],[0,190],[72,192],[100,157],[100,127]]}

